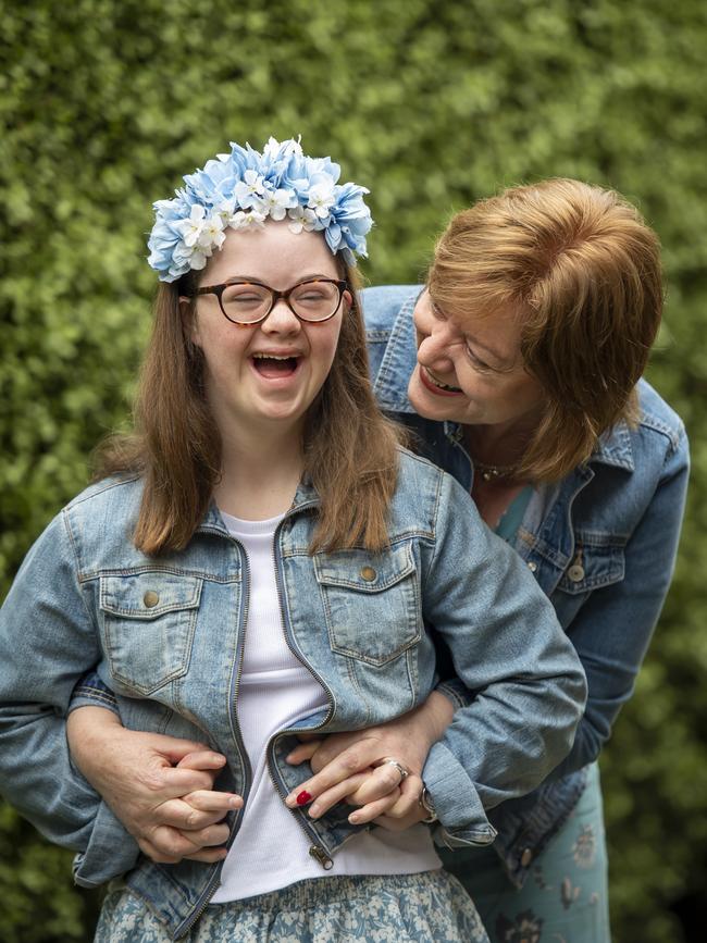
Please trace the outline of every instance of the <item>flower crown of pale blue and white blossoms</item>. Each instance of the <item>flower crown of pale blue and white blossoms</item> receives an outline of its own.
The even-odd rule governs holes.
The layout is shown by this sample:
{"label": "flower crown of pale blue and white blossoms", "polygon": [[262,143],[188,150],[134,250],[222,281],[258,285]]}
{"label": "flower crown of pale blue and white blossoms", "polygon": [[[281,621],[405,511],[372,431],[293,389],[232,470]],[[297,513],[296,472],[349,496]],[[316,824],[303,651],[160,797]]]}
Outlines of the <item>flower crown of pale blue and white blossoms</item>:
{"label": "flower crown of pale blue and white blossoms", "polygon": [[356,264],[365,256],[365,234],[373,225],[363,202],[369,190],[337,184],[340,167],[330,158],[310,158],[298,140],[271,137],[262,153],[249,144],[231,142],[203,170],[184,177],[172,200],[158,200],[150,233],[148,264],[160,281],[174,282],[190,269],[203,269],[220,249],[226,227],[262,227],[265,219],[289,219],[293,233],[324,231],[332,252]]}

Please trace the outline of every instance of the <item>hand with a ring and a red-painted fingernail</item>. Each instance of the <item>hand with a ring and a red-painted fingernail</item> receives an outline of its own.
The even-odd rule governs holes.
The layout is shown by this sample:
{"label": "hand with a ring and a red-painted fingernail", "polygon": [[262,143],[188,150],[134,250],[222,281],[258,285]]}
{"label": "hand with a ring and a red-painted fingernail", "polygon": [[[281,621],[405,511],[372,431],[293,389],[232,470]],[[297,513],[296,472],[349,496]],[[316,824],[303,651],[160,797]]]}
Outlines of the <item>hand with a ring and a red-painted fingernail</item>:
{"label": "hand with a ring and a red-painted fingernail", "polygon": [[[309,814],[313,818],[345,799],[361,806],[349,816],[355,824],[384,814],[407,822],[413,812],[418,815],[420,773],[430,748],[452,716],[454,708],[447,698],[433,692],[424,705],[388,723],[300,744],[287,756],[287,761],[297,765],[309,759],[315,776],[300,783],[287,796],[286,804],[295,808],[297,797],[309,793],[308,802],[313,799]],[[386,757],[395,758],[410,771],[407,779],[401,782],[395,767],[382,762]],[[424,811],[420,811],[415,821],[425,818]]]}

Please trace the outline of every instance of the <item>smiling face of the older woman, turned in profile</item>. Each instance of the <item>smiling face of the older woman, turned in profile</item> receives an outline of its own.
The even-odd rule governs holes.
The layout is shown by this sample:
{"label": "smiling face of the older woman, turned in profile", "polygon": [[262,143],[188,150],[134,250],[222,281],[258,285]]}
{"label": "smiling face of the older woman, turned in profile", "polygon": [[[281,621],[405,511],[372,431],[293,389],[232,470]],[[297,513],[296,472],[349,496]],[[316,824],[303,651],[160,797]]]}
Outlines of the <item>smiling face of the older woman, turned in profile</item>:
{"label": "smiling face of the older woman, turned in profile", "polygon": [[462,319],[438,310],[425,289],[413,318],[418,363],[408,397],[420,415],[509,427],[537,421],[543,389],[525,370],[512,313]]}

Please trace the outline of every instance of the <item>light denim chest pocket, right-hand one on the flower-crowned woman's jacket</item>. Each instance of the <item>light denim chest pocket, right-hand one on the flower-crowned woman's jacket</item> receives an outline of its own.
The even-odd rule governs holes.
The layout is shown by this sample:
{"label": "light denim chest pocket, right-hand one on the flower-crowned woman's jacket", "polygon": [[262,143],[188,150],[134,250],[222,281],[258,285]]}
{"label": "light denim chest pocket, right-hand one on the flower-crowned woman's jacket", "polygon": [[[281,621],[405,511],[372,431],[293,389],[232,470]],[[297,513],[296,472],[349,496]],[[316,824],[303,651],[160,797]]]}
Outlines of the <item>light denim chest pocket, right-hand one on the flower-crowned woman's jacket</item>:
{"label": "light denim chest pocket, right-hand one on the flower-crowned woman's jacket", "polygon": [[383,554],[326,554],[314,557],[314,568],[334,652],[382,666],[420,641],[420,593],[408,545]]}

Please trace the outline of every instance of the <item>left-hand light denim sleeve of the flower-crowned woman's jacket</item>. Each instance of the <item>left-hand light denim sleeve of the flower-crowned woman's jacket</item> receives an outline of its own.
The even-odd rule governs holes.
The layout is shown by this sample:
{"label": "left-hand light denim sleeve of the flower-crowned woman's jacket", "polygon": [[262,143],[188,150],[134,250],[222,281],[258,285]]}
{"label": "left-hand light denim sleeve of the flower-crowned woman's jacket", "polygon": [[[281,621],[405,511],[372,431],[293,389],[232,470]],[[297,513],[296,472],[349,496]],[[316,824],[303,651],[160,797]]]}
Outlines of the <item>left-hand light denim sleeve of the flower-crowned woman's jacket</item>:
{"label": "left-hand light denim sleeve of the flower-crowned woman's jacket", "polygon": [[[137,845],[74,767],[66,742],[74,685],[99,659],[62,512],[27,554],[0,609],[0,792],[55,844],[90,851],[97,822],[103,836],[120,833],[127,867]],[[115,845],[103,854],[122,857]]]}

